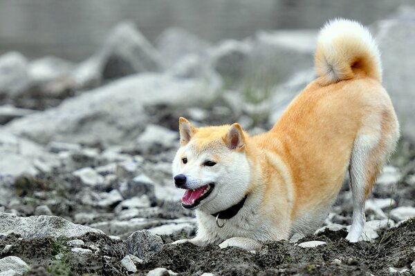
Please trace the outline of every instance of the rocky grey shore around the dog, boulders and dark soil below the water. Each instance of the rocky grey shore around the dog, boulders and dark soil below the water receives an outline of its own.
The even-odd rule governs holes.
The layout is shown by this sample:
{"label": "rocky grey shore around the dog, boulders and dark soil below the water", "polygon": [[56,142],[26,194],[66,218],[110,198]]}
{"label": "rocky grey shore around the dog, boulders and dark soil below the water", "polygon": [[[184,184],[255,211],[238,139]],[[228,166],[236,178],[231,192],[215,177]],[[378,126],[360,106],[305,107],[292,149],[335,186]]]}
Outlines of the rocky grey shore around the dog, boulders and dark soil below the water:
{"label": "rocky grey shore around the dog, boulders and dark soil below the water", "polygon": [[170,244],[196,230],[172,184],[178,117],[263,132],[315,77],[317,30],[213,45],[172,28],[152,46],[121,23],[80,64],[1,56],[0,275],[415,273],[414,27],[410,7],[370,26],[403,137],[367,201],[362,242],[344,240],[345,179],[323,228],[257,252]]}

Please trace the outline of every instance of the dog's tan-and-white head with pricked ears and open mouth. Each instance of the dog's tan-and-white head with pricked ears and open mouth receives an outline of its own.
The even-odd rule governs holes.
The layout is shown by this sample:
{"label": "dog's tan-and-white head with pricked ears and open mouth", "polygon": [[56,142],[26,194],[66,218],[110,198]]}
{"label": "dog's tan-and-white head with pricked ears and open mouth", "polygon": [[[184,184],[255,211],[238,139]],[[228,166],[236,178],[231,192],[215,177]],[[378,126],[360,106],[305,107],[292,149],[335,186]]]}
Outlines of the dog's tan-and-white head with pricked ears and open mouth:
{"label": "dog's tan-and-white head with pricked ears and open mouth", "polygon": [[181,147],[173,161],[174,184],[185,189],[182,206],[216,213],[247,193],[250,162],[239,124],[194,128],[179,120]]}

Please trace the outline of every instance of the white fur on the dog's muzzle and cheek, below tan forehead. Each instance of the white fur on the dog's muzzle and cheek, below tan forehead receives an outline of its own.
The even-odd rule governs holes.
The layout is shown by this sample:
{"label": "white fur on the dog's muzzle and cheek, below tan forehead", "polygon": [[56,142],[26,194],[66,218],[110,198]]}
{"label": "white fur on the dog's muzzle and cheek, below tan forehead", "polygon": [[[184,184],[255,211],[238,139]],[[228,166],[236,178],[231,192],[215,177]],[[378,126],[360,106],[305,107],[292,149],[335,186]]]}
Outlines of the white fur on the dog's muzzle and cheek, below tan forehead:
{"label": "white fur on the dog's muzzle and cheek, below tan forehead", "polygon": [[[197,152],[195,141],[178,149],[174,157],[173,177],[183,174],[187,177],[187,188],[200,188],[214,184],[212,193],[197,206],[205,213],[216,213],[237,204],[247,193],[250,183],[250,164],[245,152],[221,147],[208,147]],[[203,166],[205,161],[214,161],[214,166]],[[187,158],[183,164],[182,158]],[[184,190],[183,190],[184,193]]]}

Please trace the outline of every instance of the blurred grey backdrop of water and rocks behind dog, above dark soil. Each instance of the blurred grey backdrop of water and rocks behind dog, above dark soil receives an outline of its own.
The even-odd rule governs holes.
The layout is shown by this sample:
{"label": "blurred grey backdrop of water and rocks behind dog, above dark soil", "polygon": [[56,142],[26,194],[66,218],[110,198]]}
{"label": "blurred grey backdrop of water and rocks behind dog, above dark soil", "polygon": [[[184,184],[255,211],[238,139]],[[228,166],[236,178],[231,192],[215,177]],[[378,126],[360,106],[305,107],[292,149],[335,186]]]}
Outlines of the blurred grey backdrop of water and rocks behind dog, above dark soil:
{"label": "blurred grey backdrop of water and rocks behind dog, above dark soil", "polygon": [[[171,175],[178,117],[266,131],[315,79],[335,17],[378,41],[402,130],[367,219],[415,216],[414,0],[0,0],[0,213],[194,235]],[[325,224],[351,210],[346,184]]]}

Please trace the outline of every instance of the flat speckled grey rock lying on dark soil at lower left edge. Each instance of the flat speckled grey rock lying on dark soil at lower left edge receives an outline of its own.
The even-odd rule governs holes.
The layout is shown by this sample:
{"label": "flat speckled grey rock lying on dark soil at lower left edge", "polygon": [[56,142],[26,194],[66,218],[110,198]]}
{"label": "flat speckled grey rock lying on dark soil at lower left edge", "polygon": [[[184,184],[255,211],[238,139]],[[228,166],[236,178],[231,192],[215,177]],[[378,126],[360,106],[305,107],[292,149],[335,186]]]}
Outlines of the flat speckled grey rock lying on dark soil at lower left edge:
{"label": "flat speckled grey rock lying on dark soil at lower left edge", "polygon": [[102,233],[62,217],[33,216],[17,217],[6,213],[0,213],[0,233],[15,233],[21,237],[79,237],[85,233]]}

